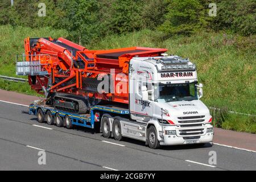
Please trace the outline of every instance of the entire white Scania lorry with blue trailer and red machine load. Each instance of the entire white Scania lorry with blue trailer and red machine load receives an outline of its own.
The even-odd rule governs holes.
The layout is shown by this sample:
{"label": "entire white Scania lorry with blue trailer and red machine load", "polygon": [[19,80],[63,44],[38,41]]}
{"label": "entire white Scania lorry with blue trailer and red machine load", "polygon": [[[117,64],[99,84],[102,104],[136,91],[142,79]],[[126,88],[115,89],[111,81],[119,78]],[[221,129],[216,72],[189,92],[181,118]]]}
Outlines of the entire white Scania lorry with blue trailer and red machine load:
{"label": "entire white Scania lorry with blue trailer and red machine load", "polygon": [[29,107],[38,122],[98,129],[150,148],[212,142],[212,116],[189,59],[163,48],[89,50],[51,37],[26,38],[24,48],[16,74],[45,96]]}

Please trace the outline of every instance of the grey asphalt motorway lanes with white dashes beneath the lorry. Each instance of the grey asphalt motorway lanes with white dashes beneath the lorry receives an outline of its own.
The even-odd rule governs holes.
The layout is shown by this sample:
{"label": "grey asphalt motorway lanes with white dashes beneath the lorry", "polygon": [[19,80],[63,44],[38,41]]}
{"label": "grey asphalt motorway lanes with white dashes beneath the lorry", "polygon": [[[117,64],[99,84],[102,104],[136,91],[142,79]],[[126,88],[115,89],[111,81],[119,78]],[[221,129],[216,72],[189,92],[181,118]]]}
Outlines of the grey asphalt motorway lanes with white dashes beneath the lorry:
{"label": "grey asphalt motorway lanes with white dashes beneath the lorry", "polygon": [[[38,123],[27,110],[0,102],[0,170],[256,170],[255,152],[215,144],[152,150],[138,140]],[[42,150],[45,165],[38,164]],[[209,164],[210,151],[216,164]]]}

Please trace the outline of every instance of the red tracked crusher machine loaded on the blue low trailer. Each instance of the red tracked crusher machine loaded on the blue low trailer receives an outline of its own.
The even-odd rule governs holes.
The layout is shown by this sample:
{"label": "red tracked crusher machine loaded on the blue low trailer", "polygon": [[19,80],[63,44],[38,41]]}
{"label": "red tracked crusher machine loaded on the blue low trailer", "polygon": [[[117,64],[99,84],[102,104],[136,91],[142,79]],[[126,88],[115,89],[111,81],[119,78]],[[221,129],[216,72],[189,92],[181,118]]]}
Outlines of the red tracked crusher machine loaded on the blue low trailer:
{"label": "red tracked crusher machine loaded on the blue low trailer", "polygon": [[[67,39],[51,37],[26,38],[24,49],[24,55],[16,56],[17,75],[27,75],[31,88],[46,96],[47,105],[78,114],[88,113],[90,107],[100,102],[128,105],[129,79],[115,75],[123,73],[128,78],[133,57],[160,56],[167,51],[145,47],[90,51]],[[114,92],[110,86],[109,92],[98,92],[102,81],[98,77],[102,74],[114,83]],[[118,82],[126,82],[127,92],[118,92]]]}

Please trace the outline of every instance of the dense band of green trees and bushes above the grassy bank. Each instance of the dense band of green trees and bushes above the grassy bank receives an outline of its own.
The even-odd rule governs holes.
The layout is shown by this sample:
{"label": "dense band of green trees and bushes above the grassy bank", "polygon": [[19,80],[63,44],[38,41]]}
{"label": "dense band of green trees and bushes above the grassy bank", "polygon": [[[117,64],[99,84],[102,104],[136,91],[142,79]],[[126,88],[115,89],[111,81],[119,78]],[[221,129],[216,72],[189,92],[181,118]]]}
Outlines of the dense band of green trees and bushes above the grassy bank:
{"label": "dense band of green trees and bushes above the grassy bank", "polygon": [[[46,16],[38,16],[39,3]],[[209,16],[210,0],[14,0],[0,2],[0,24],[53,27],[69,32],[81,44],[107,35],[144,28],[167,36],[204,30],[228,30],[248,36],[256,31],[256,1],[217,0],[217,16]]]}

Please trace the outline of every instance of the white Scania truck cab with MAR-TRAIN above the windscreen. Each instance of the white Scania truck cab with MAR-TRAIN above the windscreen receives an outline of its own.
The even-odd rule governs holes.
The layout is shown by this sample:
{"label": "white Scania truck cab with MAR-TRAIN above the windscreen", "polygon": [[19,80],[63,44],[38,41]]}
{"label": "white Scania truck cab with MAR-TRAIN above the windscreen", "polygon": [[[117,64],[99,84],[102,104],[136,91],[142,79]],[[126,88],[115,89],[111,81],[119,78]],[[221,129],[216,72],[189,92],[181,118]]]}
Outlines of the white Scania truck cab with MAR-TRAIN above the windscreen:
{"label": "white Scania truck cab with MAR-TRAIN above the windscreen", "polygon": [[122,136],[143,140],[151,148],[212,142],[212,116],[200,101],[202,87],[189,59],[134,57],[129,69],[130,119],[120,119]]}

